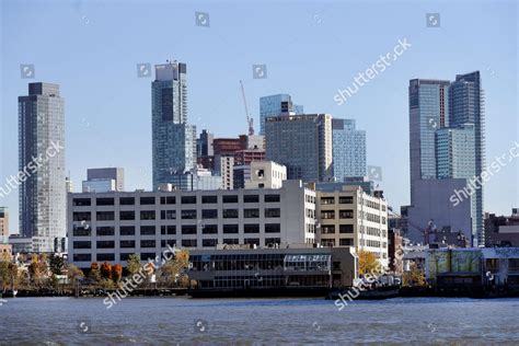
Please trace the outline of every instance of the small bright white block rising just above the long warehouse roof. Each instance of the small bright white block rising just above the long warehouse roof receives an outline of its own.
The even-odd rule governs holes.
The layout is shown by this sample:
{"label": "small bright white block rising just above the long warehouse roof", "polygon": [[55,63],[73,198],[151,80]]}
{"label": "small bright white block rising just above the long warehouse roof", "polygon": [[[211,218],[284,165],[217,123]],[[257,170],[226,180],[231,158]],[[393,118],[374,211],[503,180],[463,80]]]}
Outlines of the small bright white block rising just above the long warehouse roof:
{"label": "small bright white block rising just above the long warehouse roof", "polygon": [[287,180],[287,168],[273,161],[251,162],[251,176],[245,188],[281,188]]}

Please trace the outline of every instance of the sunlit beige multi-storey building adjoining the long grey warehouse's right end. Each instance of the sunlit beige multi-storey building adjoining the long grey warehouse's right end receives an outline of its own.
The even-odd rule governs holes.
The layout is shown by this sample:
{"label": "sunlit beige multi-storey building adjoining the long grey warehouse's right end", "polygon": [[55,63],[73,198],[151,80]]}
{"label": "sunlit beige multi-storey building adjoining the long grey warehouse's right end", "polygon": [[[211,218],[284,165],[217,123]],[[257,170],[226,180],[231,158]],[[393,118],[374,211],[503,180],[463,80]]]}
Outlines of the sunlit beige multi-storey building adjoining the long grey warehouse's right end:
{"label": "sunlit beige multi-storey building adjoining the long grey warehouse's right end", "polygon": [[373,253],[389,265],[388,203],[359,186],[316,191],[318,243]]}

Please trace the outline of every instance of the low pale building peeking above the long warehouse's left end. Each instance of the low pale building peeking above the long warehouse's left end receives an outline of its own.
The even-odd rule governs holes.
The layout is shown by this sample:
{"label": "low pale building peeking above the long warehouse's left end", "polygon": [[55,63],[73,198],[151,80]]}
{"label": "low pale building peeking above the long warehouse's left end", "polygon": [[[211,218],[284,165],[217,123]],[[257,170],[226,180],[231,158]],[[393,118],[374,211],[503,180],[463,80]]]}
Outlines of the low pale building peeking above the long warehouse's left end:
{"label": "low pale building peeking above the long warehouse's left end", "polygon": [[125,170],[122,168],[89,169],[83,181],[83,193],[125,191]]}

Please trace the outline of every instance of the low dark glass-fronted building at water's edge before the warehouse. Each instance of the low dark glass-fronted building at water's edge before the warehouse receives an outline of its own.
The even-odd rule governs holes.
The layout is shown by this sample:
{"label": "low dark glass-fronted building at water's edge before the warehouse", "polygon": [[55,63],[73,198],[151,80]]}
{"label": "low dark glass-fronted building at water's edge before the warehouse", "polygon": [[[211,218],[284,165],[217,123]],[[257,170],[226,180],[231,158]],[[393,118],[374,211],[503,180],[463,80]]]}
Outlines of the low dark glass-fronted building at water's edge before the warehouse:
{"label": "low dark glass-fronted building at water's edge before the warehouse", "polygon": [[239,295],[274,290],[281,293],[322,293],[351,287],[358,277],[358,257],[348,247],[219,249],[189,252],[193,295],[226,291]]}

